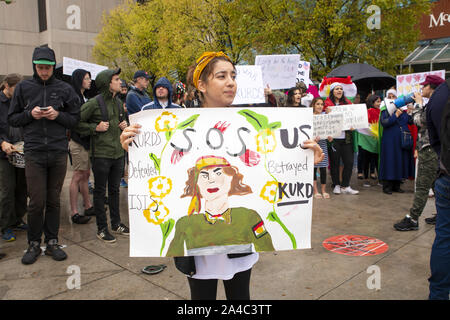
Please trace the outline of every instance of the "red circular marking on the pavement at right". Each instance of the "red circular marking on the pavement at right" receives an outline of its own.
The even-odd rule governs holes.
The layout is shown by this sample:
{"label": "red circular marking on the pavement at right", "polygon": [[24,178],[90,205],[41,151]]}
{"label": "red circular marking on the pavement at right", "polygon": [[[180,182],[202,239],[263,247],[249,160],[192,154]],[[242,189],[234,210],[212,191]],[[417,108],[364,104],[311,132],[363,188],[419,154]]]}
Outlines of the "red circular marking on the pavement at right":
{"label": "red circular marking on the pavement at right", "polygon": [[366,236],[341,235],[328,238],[322,243],[331,252],[347,256],[375,256],[389,249],[387,243]]}

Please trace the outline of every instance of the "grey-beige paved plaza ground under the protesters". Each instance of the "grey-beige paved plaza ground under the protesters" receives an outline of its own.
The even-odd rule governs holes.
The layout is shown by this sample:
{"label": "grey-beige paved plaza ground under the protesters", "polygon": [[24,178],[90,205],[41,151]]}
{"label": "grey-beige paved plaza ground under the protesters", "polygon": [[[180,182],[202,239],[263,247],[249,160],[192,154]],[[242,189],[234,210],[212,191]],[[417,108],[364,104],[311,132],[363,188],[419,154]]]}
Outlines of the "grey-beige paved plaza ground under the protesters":
{"label": "grey-beige paved plaza ground under the protesters", "polygon": [[[130,258],[128,237],[118,236],[114,244],[96,238],[95,217],[87,225],[71,223],[71,175],[69,169],[61,199],[60,244],[67,246],[68,259],[56,262],[41,256],[35,264],[26,266],[20,261],[27,248],[26,233],[17,232],[14,242],[0,240],[0,250],[7,254],[0,260],[0,299],[190,299],[186,277],[175,268],[173,259]],[[352,180],[352,187],[360,194],[332,194],[331,199],[314,200],[311,249],[260,254],[252,271],[252,299],[428,298],[429,259],[435,232],[424,218],[435,213],[434,198],[420,217],[418,231],[398,232],[392,225],[403,218],[412,204],[412,181],[403,185],[405,193],[390,196],[382,193],[380,186],[364,188],[362,180]],[[126,199],[127,189],[121,188],[122,217],[128,223]],[[323,241],[337,235],[373,237],[386,242],[389,249],[373,256],[347,256],[326,250]],[[161,263],[167,265],[165,271],[156,275],[141,273],[144,266]],[[80,289],[67,286],[70,266],[80,268]],[[378,289],[368,288],[368,283],[369,287],[377,284],[370,278],[375,275],[373,270],[381,276]],[[218,299],[225,299],[221,282]]]}

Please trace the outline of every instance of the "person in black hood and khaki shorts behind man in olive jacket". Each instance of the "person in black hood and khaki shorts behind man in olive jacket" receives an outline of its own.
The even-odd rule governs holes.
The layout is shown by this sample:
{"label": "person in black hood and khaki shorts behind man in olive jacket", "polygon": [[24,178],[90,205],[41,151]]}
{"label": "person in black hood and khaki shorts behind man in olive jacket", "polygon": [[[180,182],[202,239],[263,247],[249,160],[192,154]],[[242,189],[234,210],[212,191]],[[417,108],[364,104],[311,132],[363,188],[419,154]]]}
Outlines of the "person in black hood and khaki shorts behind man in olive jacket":
{"label": "person in black hood and khaki shorts behind man in olive jacket", "polygon": [[[85,91],[91,88],[91,73],[84,69],[76,69],[72,73],[72,86],[78,94],[81,103],[85,103]],[[94,215],[94,207],[91,204],[89,196],[89,175],[91,173],[89,163],[89,137],[80,137],[80,135],[72,130],[70,133],[69,150],[72,159],[73,175],[70,182],[70,208],[71,220],[76,224],[85,224],[91,220]],[[83,197],[84,214],[78,213],[78,190]]]}

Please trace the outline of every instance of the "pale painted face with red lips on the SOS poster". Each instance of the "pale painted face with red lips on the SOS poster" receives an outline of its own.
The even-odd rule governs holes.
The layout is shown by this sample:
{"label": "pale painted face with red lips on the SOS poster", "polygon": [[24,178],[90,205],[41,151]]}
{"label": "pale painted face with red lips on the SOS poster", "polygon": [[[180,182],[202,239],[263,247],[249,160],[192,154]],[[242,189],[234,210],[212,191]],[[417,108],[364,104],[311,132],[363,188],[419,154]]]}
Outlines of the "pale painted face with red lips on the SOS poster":
{"label": "pale painted face with red lips on the SOS poster", "polygon": [[228,197],[232,180],[233,177],[227,175],[221,167],[212,167],[200,171],[197,185],[202,197],[206,201],[213,201],[223,196]]}

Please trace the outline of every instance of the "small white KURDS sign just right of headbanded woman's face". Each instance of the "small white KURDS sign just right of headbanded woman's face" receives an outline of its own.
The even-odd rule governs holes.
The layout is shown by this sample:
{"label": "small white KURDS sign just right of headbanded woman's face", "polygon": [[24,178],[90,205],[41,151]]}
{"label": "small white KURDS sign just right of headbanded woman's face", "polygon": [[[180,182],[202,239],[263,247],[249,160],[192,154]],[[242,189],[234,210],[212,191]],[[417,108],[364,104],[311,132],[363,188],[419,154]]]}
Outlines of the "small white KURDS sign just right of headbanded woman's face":
{"label": "small white KURDS sign just right of headbanded woman's face", "polygon": [[264,86],[260,66],[236,66],[237,91],[233,104],[264,103]]}

